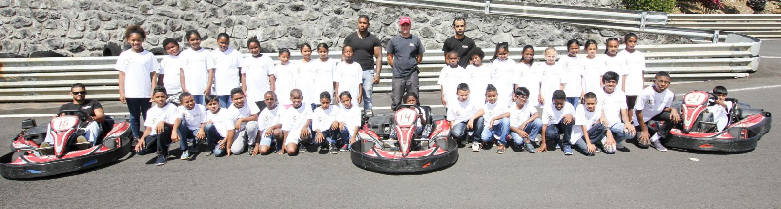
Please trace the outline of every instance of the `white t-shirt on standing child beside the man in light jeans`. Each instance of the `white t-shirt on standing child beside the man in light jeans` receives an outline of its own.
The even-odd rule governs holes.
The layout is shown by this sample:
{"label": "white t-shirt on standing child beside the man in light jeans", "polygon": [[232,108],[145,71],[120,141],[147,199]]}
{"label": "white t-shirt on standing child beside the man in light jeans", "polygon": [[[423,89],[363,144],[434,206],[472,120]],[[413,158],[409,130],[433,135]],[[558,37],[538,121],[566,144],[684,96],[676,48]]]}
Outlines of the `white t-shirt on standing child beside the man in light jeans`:
{"label": "white t-shirt on standing child beside the man in light jeans", "polygon": [[[338,94],[342,91],[349,91],[352,96],[352,105],[358,105],[358,93],[360,93],[359,87],[363,83],[363,70],[358,62],[339,62],[337,64],[337,71],[333,74],[333,79],[339,83]],[[337,102],[341,106],[341,102]]]}

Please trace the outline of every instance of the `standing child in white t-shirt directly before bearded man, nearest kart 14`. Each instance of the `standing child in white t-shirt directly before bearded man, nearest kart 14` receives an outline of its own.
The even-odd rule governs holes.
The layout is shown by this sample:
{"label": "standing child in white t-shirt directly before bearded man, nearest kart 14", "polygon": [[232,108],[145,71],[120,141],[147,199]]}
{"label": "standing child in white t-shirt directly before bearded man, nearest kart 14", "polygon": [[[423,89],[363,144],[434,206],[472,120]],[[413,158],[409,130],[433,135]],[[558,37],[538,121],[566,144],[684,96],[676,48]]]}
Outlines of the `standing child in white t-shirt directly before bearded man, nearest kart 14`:
{"label": "standing child in white t-shirt directly before bearded man, nearest kart 14", "polygon": [[461,83],[461,77],[465,69],[458,66],[458,51],[448,51],[445,53],[448,66],[442,67],[437,84],[440,85],[440,100],[443,106],[448,106],[448,98],[455,97],[455,91],[458,83]]}

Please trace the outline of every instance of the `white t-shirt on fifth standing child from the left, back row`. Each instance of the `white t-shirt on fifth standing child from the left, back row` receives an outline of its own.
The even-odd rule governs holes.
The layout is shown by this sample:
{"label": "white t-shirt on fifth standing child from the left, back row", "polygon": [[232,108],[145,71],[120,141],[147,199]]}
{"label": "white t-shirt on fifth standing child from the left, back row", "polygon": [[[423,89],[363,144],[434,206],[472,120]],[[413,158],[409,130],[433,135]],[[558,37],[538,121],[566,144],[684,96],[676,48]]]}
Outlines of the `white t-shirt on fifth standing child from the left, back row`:
{"label": "white t-shirt on fifth standing child from the left, back row", "polygon": [[251,101],[263,101],[263,94],[271,90],[269,76],[276,73],[274,61],[269,55],[261,54],[259,58],[250,55],[241,61],[241,73],[244,73],[246,79],[247,97]]}

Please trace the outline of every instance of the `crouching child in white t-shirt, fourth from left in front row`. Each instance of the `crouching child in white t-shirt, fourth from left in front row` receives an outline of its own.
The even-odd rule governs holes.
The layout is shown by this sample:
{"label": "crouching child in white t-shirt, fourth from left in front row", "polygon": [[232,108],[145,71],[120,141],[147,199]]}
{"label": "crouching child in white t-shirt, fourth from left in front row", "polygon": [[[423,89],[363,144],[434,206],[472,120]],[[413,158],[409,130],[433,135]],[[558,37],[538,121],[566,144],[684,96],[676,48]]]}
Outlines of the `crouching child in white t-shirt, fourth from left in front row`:
{"label": "crouching child in white t-shirt, fourth from left in front row", "polygon": [[230,149],[227,150],[229,157],[230,154],[240,154],[245,147],[255,146],[255,140],[258,138],[258,112],[260,112],[255,102],[246,100],[241,88],[230,90],[230,101],[233,101],[233,105],[230,105],[227,112],[228,141],[220,143],[219,147],[219,149],[223,147]]}

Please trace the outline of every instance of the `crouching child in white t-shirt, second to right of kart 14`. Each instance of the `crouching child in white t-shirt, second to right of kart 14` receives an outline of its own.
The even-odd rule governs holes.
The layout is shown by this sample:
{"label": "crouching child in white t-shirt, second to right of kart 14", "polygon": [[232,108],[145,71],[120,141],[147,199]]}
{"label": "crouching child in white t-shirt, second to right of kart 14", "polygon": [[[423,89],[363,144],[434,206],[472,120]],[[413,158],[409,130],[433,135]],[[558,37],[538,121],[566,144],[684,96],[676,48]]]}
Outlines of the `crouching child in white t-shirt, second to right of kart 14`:
{"label": "crouching child in white t-shirt, second to right of kart 14", "polygon": [[507,144],[507,134],[510,132],[510,119],[502,117],[507,112],[507,106],[499,103],[499,94],[493,84],[486,87],[486,104],[483,105],[483,133],[480,134],[482,143],[475,141],[472,143],[472,151],[480,151],[483,144],[496,139],[496,153],[505,153]]}

